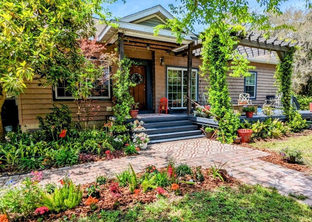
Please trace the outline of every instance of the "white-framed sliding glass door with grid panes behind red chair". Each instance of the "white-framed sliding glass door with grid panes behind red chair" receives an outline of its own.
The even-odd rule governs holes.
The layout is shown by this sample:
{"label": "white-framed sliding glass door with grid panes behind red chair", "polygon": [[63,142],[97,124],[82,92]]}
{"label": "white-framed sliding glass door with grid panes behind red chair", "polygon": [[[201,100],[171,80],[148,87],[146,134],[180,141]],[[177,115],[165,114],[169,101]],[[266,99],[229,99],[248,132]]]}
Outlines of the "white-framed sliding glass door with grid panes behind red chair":
{"label": "white-framed sliding glass door with grid panes behind red chair", "polygon": [[[169,108],[186,108],[187,68],[167,67],[167,98]],[[192,69],[192,100],[197,100],[197,69]]]}

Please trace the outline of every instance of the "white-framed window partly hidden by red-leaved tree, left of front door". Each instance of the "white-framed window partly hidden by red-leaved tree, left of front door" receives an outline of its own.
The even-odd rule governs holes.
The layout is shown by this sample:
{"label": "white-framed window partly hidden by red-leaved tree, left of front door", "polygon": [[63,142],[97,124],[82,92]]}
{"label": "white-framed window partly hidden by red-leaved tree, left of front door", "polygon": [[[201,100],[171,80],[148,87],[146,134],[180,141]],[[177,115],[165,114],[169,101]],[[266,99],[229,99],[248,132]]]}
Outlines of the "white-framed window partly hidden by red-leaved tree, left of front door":
{"label": "white-framed window partly hidden by red-leaved tree, left of front door", "polygon": [[[104,70],[104,78],[109,76],[109,69]],[[87,81],[90,81],[87,79]],[[55,90],[53,90],[53,99],[56,100],[72,100],[73,96],[71,92],[66,90],[66,88],[69,86],[69,82],[60,81],[58,82],[58,85],[55,87]],[[110,86],[110,79],[103,80],[102,78],[98,78],[93,83],[93,91],[90,96],[90,98],[95,99],[110,99],[111,95],[111,86]]]}

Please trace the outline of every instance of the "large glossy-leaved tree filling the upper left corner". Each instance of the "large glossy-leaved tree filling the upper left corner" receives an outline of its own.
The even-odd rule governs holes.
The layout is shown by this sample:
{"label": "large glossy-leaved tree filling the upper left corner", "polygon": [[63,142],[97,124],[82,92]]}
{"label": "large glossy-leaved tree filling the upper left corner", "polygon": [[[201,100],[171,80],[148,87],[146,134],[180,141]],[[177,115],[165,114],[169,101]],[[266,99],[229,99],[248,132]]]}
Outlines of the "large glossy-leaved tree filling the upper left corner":
{"label": "large glossy-leaved tree filling the upper left corner", "polygon": [[[101,4],[116,1],[0,1],[0,111],[5,98],[22,93],[27,81],[56,85],[79,74],[86,60],[79,39],[94,36],[92,15],[106,22],[111,13]],[[1,116],[0,139],[4,139]]]}

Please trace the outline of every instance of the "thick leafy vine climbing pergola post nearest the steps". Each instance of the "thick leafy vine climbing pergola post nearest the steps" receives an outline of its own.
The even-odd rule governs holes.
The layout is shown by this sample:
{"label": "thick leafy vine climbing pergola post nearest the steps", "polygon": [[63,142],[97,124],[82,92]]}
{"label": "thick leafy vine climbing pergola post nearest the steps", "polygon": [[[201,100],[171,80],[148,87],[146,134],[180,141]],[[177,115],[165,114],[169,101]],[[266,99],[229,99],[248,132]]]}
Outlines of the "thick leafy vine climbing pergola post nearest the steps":
{"label": "thick leafy vine climbing pergola post nearest the steps", "polygon": [[[236,30],[232,29],[232,32],[236,32]],[[202,38],[204,39],[202,43],[203,65],[200,68],[203,73],[209,73],[210,111],[219,121],[218,140],[232,143],[240,123],[239,115],[235,115],[232,112],[230,106],[231,98],[229,97],[226,81],[227,72],[229,71],[228,61],[232,58],[233,44],[224,43],[222,36],[210,30],[207,30]],[[233,75],[237,75],[241,71],[246,76],[248,75],[246,70],[253,68],[248,66],[248,62],[245,62],[245,60],[240,62],[239,59],[236,59],[235,61],[235,66],[231,67],[236,70],[236,73],[232,73]]]}

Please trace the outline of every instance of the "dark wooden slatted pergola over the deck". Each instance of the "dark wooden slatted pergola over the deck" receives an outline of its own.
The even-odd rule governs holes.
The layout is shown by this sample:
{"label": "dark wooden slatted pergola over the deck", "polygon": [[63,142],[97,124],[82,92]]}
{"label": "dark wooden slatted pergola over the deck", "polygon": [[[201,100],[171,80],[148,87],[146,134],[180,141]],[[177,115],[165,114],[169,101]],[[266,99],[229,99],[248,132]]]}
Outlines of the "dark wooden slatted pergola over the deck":
{"label": "dark wooden slatted pergola over the deck", "polygon": [[[284,60],[284,52],[290,50],[290,48],[296,45],[302,46],[304,43],[285,41],[285,39],[265,38],[261,34],[255,34],[253,32],[247,33],[245,38],[239,37],[243,30],[236,33],[237,45],[233,48],[238,50],[238,54],[245,55],[245,58],[251,58],[259,55],[270,54],[276,52],[280,61]],[[175,56],[187,56],[188,57],[188,81],[187,81],[187,96],[191,98],[191,81],[192,81],[192,60],[193,58],[201,57],[202,40],[196,40],[188,45],[183,45],[174,48],[167,53]],[[192,103],[187,101],[187,113],[191,114]]]}

